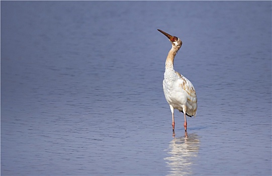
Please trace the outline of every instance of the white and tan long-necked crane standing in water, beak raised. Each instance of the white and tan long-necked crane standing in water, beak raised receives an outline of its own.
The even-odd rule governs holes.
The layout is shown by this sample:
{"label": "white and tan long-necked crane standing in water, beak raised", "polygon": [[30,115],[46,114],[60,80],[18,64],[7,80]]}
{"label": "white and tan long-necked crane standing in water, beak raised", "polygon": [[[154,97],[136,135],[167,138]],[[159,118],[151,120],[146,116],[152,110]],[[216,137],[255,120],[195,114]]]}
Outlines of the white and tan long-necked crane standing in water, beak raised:
{"label": "white and tan long-necked crane standing in water, beak raised", "polygon": [[[172,113],[172,128],[173,135],[175,134],[174,109],[184,113],[184,128],[187,133],[187,119],[186,116],[192,117],[197,115],[197,94],[192,82],[182,74],[174,70],[174,58],[180,47],[182,47],[182,40],[175,36],[171,36],[166,32],[158,29],[171,42],[172,47],[168,52],[165,61],[164,79],[162,81],[163,93],[167,103],[170,106]],[[183,65],[186,68],[186,65]]]}

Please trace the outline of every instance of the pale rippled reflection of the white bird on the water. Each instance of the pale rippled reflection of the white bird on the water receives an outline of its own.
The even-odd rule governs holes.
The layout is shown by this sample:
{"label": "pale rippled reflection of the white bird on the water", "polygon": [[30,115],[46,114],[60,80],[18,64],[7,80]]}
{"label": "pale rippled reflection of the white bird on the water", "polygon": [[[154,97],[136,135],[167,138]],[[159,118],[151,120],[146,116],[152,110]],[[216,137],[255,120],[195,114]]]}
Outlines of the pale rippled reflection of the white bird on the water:
{"label": "pale rippled reflection of the white bird on the water", "polygon": [[198,156],[200,146],[199,136],[197,134],[185,133],[182,137],[175,137],[167,149],[167,166],[170,167],[168,175],[192,175],[194,174],[191,166],[194,159]]}

